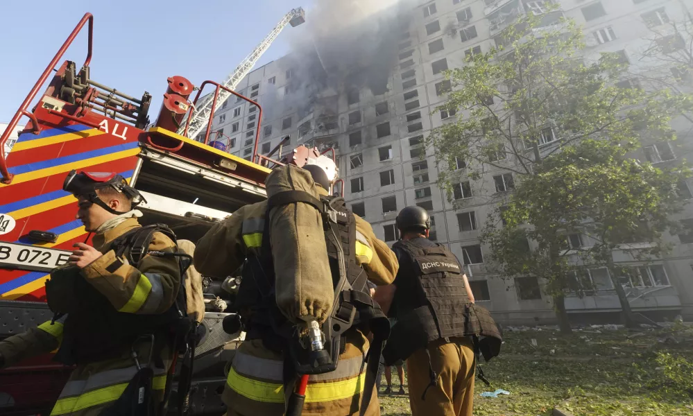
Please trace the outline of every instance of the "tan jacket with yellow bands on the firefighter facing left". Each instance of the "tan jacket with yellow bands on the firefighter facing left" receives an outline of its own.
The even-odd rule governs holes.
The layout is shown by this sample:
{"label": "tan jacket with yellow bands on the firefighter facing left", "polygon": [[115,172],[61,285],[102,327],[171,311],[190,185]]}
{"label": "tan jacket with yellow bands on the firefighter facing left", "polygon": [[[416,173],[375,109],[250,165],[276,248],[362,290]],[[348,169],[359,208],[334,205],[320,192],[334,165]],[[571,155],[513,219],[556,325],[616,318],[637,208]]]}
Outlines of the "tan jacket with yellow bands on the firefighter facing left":
{"label": "tan jacket with yellow bands on the firefighter facing left", "polygon": [[[146,318],[147,315],[157,315],[169,310],[178,293],[180,269],[178,261],[171,257],[146,256],[139,269],[130,266],[126,259],[117,258],[111,250],[113,241],[136,227],[139,227],[137,218],[128,218],[116,227],[96,234],[92,240],[94,248],[103,253],[103,256],[80,273],[85,281],[103,295],[103,308]],[[173,241],[158,232],[149,245],[149,250],[170,252],[175,249]],[[94,315],[99,316],[98,313]],[[71,338],[73,342],[93,344],[108,331],[119,332],[119,328],[104,327],[108,323],[101,323],[101,327],[92,328],[92,332],[87,330],[87,333],[70,333],[72,329],[82,331],[78,324],[91,322],[78,319],[74,321],[77,324],[70,327],[70,320],[68,313],[55,322],[44,322],[37,328],[1,341],[0,354],[4,358],[4,365],[51,352],[66,338]],[[130,355],[131,349],[139,356],[142,366],[150,365],[153,368],[154,396],[159,401],[163,398],[166,372],[172,357],[170,346],[158,340],[155,345],[149,340],[138,340],[127,345],[119,343],[118,347],[117,351],[109,349],[108,358],[78,363],[51,415],[95,415],[113,404],[137,374],[137,366]]]}

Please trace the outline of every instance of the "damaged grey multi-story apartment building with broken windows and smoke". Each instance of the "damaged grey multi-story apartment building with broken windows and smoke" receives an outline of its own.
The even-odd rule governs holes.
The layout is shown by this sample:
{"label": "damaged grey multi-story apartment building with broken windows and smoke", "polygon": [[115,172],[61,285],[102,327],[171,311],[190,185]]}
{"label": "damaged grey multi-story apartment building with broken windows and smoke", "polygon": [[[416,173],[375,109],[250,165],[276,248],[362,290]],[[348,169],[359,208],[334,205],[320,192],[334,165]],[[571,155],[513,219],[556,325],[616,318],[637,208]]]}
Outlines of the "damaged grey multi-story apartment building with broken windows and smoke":
{"label": "damaged grey multi-story apartment building with broken windows and smoke", "polygon": [[[455,117],[434,110],[446,99],[443,71],[463,66],[470,54],[488,51],[519,13],[544,12],[547,3],[420,1],[416,7],[393,12],[401,20],[391,29],[397,37],[391,47],[397,50],[387,66],[386,89],[344,87],[345,83],[334,80],[318,88],[306,88],[310,83],[297,87],[292,79],[301,76],[305,68],[300,67],[302,59],[296,58],[300,54],[296,52],[256,69],[237,87],[237,91],[264,106],[262,127],[253,107],[230,98],[215,114],[214,131],[222,133],[230,153],[248,159],[253,154],[257,128],[262,128],[259,151],[264,154],[286,136],[291,139],[283,153],[299,144],[335,148],[344,180],[343,196],[354,213],[373,225],[380,239],[388,243],[397,239],[397,211],[408,205],[424,207],[433,223],[431,239],[447,245],[464,261],[477,302],[503,322],[549,322],[554,312],[550,298],[540,291],[540,282],[533,277],[503,279],[493,275],[487,267],[488,248],[479,242],[481,227],[500,202],[495,194],[513,187],[512,175],[497,169],[487,171],[480,180],[461,183],[453,193],[461,208],[455,209],[447,193],[436,185],[439,167],[434,150],[422,146],[431,129]],[[651,71],[653,65],[657,66],[657,62],[642,58],[653,33],[665,31],[669,22],[685,16],[685,7],[693,8],[693,0],[558,3],[560,7],[545,17],[545,23],[558,21],[559,17],[574,19],[584,28],[586,60],[604,51],[620,52],[631,62],[634,72]],[[324,70],[325,62],[318,58]],[[330,73],[325,78],[334,76],[339,78],[340,74]],[[319,83],[323,81],[320,78]],[[685,127],[682,131],[691,126]],[[544,139],[550,145],[556,137],[551,133]],[[676,146],[645,145],[635,157],[666,164],[683,159],[691,141],[682,135]],[[691,197],[690,191],[687,196]],[[693,210],[688,208],[680,219],[693,223]],[[683,313],[693,318],[693,235],[669,237],[676,247],[665,259],[644,264],[622,253],[616,253],[615,259],[633,268],[626,291],[635,311],[660,317]],[[569,240],[573,247],[589,245],[583,236],[569,236]],[[588,273],[597,291],[567,297],[567,309],[576,317],[592,319],[619,311],[606,269]]]}

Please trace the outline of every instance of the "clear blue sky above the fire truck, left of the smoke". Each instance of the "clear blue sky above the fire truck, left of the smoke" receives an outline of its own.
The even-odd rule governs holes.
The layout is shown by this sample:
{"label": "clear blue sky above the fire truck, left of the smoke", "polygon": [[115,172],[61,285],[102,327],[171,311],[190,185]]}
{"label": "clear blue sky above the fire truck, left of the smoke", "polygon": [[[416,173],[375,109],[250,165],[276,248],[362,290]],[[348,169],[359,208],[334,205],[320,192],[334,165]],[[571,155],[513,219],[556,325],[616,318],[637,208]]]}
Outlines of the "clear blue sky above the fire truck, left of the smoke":
{"label": "clear blue sky above the fire truck, left of the smoke", "polygon": [[[85,12],[94,15],[91,78],[131,96],[148,91],[154,119],[167,77],[185,76],[195,85],[223,80],[286,12],[309,10],[312,1],[3,1],[0,122],[10,121]],[[284,55],[291,32],[301,30],[287,26],[256,67]],[[82,64],[86,50],[86,35],[80,35],[63,60]]]}

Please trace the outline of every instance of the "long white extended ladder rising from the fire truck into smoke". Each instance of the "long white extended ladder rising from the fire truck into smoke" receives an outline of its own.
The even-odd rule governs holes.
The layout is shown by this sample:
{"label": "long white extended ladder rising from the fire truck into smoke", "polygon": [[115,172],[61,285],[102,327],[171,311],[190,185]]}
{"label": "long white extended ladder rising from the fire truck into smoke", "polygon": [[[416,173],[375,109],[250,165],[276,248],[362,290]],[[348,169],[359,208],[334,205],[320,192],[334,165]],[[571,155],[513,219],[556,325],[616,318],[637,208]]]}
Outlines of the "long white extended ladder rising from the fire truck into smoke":
{"label": "long white extended ladder rising from the fire truck into smoke", "polygon": [[[246,56],[246,59],[244,59],[243,62],[236,67],[236,69],[226,78],[226,80],[224,80],[221,85],[228,89],[234,89],[238,83],[241,82],[243,77],[248,75],[250,69],[253,69],[257,60],[259,60],[262,54],[269,49],[272,42],[277,39],[277,36],[279,36],[280,32],[282,29],[284,29],[284,27],[286,27],[287,24],[291,24],[292,27],[296,27],[303,22],[305,22],[305,12],[303,11],[303,8],[295,8],[291,10],[291,12],[286,13],[286,15],[279,21],[277,26],[272,29],[272,31],[262,40],[262,42],[260,42],[259,45],[255,46],[253,52]],[[207,127],[209,116],[214,113],[216,109],[219,108],[219,106],[221,106],[230,96],[231,93],[222,88],[219,92],[219,98],[216,99],[216,107],[212,108],[214,94],[207,94],[207,96],[201,100],[202,102],[196,106],[193,112],[191,112],[190,116],[192,119],[189,127],[187,128],[187,134],[185,132],[185,120],[180,123],[182,127],[178,129],[178,134],[190,138],[197,137],[200,131]]]}

